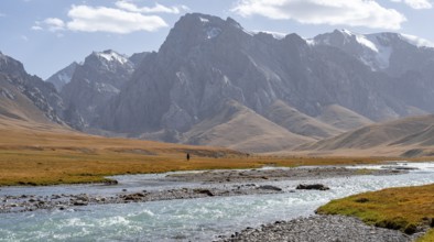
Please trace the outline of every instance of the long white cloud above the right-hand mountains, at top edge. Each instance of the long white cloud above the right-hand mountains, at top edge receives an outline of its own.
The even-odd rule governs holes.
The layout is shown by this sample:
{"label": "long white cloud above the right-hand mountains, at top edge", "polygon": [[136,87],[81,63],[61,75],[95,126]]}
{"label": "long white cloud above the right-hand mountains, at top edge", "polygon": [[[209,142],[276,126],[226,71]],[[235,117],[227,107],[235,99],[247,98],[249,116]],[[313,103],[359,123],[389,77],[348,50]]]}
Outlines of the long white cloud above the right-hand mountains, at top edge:
{"label": "long white cloud above the right-hand mountains, at top edge", "polygon": [[[421,0],[422,1],[422,0]],[[406,19],[373,0],[239,0],[231,9],[241,16],[262,15],[304,24],[399,30]]]}

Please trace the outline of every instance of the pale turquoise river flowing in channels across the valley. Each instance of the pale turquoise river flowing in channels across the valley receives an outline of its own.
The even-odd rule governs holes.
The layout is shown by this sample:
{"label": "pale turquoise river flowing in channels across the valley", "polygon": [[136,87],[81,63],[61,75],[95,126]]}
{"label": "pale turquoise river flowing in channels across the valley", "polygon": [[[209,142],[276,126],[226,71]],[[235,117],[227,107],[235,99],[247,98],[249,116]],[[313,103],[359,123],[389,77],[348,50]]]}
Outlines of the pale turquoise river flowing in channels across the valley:
{"label": "pale turquoise river flowing in channels across the valley", "polygon": [[[434,183],[434,163],[400,164],[415,167],[404,175],[354,176],[303,183],[321,183],[328,191],[294,190],[297,180],[268,182],[285,193],[143,204],[98,205],[66,210],[0,215],[0,241],[211,241],[246,227],[313,215],[332,199],[388,187]],[[380,166],[367,166],[381,168]],[[129,190],[194,187],[197,184],[161,184],[162,175],[117,176],[119,185],[1,188],[6,195],[116,194]]]}

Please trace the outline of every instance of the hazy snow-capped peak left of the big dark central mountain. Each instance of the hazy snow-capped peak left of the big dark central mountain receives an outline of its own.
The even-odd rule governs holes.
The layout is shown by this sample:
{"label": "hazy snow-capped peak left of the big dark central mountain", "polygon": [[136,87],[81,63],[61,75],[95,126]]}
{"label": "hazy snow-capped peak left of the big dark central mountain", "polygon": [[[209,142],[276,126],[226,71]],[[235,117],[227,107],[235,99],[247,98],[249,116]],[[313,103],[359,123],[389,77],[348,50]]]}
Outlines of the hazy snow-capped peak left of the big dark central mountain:
{"label": "hazy snow-capped peak left of the big dark central mountain", "polygon": [[117,96],[131,77],[134,64],[113,51],[94,52],[77,65],[61,96],[68,113],[77,112],[85,127],[98,119],[98,108]]}

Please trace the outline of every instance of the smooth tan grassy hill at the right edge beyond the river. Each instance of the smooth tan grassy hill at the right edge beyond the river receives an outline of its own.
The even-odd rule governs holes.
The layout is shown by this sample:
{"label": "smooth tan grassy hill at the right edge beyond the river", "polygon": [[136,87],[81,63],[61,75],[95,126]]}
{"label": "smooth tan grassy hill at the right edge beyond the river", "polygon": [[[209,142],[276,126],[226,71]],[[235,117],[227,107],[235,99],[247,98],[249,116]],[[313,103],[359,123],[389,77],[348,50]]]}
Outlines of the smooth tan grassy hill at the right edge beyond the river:
{"label": "smooth tan grassy hill at the right edge beyond the river", "polygon": [[376,123],[297,150],[334,155],[433,156],[433,114]]}

